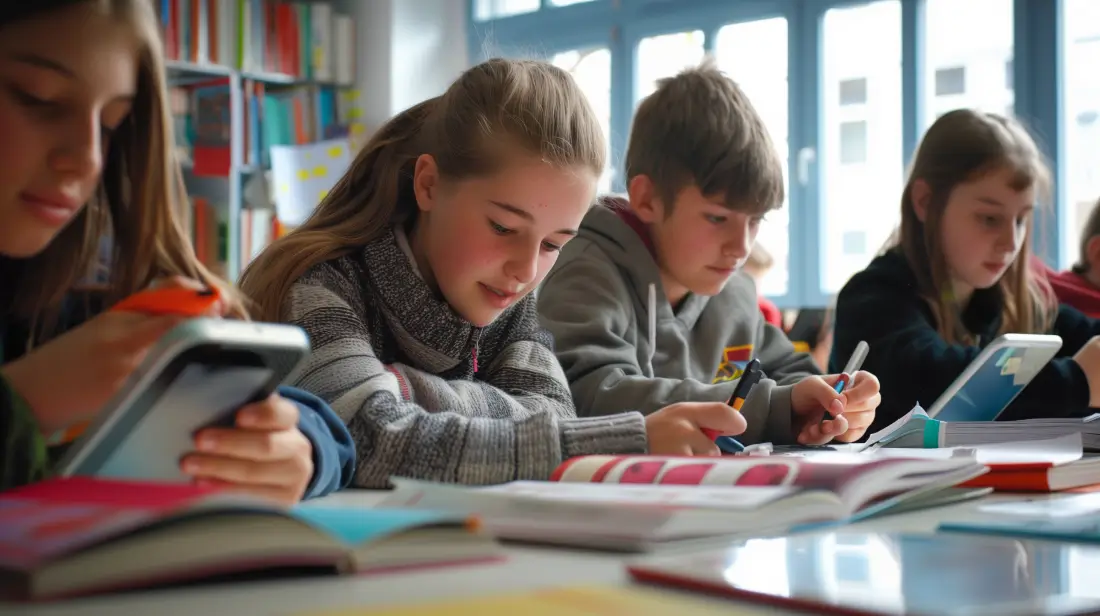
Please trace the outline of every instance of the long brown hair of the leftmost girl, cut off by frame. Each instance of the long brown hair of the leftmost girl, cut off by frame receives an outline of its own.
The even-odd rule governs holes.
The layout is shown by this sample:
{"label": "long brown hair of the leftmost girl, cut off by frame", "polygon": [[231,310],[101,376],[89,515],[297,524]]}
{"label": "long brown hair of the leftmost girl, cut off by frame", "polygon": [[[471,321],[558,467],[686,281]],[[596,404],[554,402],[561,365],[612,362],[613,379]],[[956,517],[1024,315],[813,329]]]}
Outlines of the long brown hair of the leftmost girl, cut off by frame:
{"label": "long brown hair of the leftmost girl, cut off by frame", "polygon": [[174,154],[164,52],[152,4],[146,0],[4,4],[0,29],[88,4],[130,24],[142,41],[133,107],[111,136],[96,194],[45,250],[31,258],[9,260],[15,285],[9,308],[12,316],[32,322],[36,330],[32,338],[48,337],[63,298],[95,268],[101,242],[109,240],[108,301],[131,295],[155,278],[179,275],[222,288],[231,312],[243,317],[240,300],[198,261],[190,234],[184,229],[180,215],[187,198]]}

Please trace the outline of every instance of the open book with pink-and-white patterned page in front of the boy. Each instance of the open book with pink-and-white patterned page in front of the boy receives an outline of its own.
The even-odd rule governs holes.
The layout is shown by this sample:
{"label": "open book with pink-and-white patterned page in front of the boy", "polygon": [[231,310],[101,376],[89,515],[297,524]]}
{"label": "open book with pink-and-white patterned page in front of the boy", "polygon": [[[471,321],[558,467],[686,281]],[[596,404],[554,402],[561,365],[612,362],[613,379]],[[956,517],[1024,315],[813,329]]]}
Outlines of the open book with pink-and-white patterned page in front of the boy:
{"label": "open book with pink-and-white patterned page in front of the boy", "polygon": [[551,482],[394,479],[381,506],[477,515],[503,539],[636,551],[955,502],[988,493],[952,490],[985,472],[974,459],[590,455],[563,463]]}

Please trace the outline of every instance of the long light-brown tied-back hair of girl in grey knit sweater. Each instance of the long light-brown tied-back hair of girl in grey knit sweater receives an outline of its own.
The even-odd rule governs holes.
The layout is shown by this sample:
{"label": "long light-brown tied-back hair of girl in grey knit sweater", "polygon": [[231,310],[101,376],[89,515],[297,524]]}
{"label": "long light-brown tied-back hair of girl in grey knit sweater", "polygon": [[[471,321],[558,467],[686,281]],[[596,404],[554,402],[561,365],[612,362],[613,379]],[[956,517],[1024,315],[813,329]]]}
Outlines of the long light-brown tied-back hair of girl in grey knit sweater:
{"label": "long light-brown tied-back hair of girl in grey knit sweater", "polygon": [[564,70],[534,61],[491,59],[442,96],[395,116],[375,133],[312,216],[273,242],[241,277],[263,320],[307,270],[349,254],[416,211],[413,167],[421,154],[457,180],[491,174],[518,147],[560,167],[595,175],[607,153],[595,113]]}

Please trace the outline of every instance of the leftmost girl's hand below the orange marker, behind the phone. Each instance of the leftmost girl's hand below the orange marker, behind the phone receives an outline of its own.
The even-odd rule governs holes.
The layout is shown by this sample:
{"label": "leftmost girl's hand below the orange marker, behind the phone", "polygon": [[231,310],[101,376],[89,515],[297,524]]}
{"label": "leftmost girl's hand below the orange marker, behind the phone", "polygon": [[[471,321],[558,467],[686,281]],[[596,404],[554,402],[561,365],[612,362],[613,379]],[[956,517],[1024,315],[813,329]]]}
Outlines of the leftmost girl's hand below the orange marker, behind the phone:
{"label": "leftmost girl's hand below the orange marker, behind the phone", "polygon": [[91,419],[180,317],[103,312],[0,366],[48,435]]}

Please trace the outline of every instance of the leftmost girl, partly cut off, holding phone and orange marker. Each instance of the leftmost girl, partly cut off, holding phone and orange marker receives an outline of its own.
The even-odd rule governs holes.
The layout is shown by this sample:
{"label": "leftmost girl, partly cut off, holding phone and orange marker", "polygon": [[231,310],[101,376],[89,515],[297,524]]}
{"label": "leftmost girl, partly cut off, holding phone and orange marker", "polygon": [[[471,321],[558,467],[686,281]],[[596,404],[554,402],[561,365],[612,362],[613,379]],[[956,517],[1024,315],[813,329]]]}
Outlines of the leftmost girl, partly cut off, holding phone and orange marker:
{"label": "leftmost girl, partly cut off, holding phone and orange marker", "polygon": [[[176,216],[164,61],[142,0],[42,0],[0,8],[0,490],[46,477],[65,446],[47,436],[90,419],[174,317],[92,314],[74,286],[113,242],[100,306],[153,284],[222,286]],[[224,289],[218,314],[243,316]],[[305,392],[246,406],[238,427],[196,436],[197,482],[284,503],[330,492],[354,450]]]}

